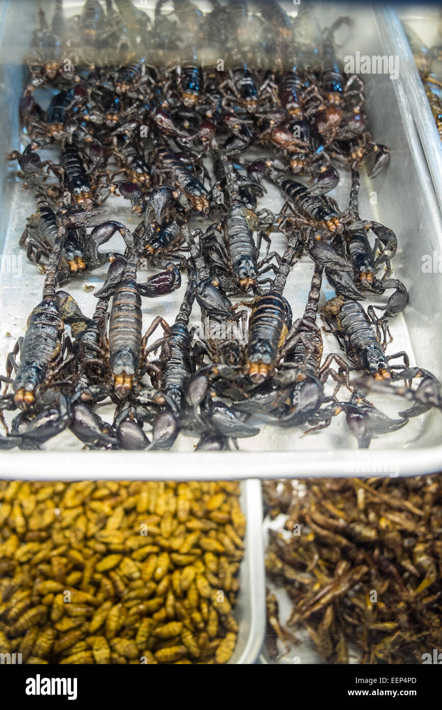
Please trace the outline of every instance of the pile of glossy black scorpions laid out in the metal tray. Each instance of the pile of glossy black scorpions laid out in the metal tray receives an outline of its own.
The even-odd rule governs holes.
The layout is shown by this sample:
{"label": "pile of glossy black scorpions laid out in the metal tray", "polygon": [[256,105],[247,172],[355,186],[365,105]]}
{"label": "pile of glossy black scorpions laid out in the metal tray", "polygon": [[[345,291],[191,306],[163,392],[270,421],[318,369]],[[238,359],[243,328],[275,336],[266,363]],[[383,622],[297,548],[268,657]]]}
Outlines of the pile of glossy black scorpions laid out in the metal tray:
{"label": "pile of glossy black scorpions laid out in the metal tray", "polygon": [[[37,207],[20,246],[45,278],[1,378],[0,448],[39,448],[69,429],[92,449],[168,449],[182,431],[199,437],[197,449],[224,450],[260,425],[318,430],[339,413],[368,447],[441,409],[436,377],[404,351],[386,353],[408,294],[392,278],[394,232],[359,214],[360,165],[374,159],[376,178],[389,149],[368,131],[363,82],[336,58],[350,18],[324,30],[304,1],[295,18],[274,0],[212,0],[206,14],[188,0],[170,13],[163,5],[153,19],[131,0],[87,0],[69,19],[60,0],[52,21],[40,11],[19,107],[28,143],[9,160]],[[225,64],[201,60],[208,46]],[[92,62],[109,47],[118,64]],[[164,48],[175,64],[161,62]],[[42,88],[47,109],[35,99]],[[40,157],[45,146],[57,163]],[[328,195],[338,168],[352,177],[346,209]],[[259,208],[269,183],[284,196],[279,214]],[[130,203],[135,229],[100,216],[110,195]],[[192,224],[201,216],[205,230]],[[112,237],[121,253],[103,251]],[[313,275],[294,317],[284,288],[303,255]],[[156,270],[144,283],[141,259]],[[62,289],[106,263],[85,315]],[[167,298],[182,274],[175,322],[158,315],[143,327],[143,298]],[[327,356],[323,277],[336,296],[321,316],[341,349]],[[362,305],[385,291],[382,307]],[[196,305],[211,324],[247,322],[248,342],[198,334]],[[411,406],[392,419],[365,399],[371,391]],[[112,423],[98,413],[109,402]],[[6,410],[19,410],[10,425]]]}

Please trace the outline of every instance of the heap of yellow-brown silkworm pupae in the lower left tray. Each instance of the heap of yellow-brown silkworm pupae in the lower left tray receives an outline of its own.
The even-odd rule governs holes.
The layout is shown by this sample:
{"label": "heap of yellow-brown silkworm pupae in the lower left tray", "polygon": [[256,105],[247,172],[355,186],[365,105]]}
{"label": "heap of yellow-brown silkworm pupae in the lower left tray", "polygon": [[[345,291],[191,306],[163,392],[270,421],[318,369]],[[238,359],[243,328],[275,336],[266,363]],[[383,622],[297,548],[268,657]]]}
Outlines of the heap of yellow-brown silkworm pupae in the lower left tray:
{"label": "heap of yellow-brown silkworm pupae in the lower left tray", "polygon": [[0,652],[28,664],[225,663],[235,482],[0,481]]}

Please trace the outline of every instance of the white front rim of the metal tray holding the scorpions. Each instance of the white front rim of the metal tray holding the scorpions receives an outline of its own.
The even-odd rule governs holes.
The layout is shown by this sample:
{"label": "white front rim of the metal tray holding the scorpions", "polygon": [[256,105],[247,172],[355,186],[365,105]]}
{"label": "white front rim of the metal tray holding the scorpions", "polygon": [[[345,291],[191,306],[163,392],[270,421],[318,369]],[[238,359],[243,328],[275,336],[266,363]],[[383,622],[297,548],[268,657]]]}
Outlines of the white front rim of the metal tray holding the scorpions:
{"label": "white front rim of the metal tray holding the scorpions", "polygon": [[[423,452],[425,455],[423,456]],[[216,481],[328,476],[419,476],[440,471],[442,444],[421,449],[292,452],[2,452],[0,479]],[[84,458],[86,454],[87,458]],[[83,457],[83,458],[82,458]],[[361,462],[366,469],[361,469]],[[356,465],[356,468],[353,467]],[[358,471],[359,466],[359,471]]]}

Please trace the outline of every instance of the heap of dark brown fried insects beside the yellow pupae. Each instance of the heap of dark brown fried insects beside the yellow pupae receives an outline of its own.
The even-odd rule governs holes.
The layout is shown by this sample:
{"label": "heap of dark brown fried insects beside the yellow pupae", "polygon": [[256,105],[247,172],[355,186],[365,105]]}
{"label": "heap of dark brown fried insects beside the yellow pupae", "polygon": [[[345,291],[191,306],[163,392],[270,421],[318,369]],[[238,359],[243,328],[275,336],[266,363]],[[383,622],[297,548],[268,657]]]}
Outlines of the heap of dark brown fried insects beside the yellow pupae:
{"label": "heap of dark brown fried insects beside the yellow pupae", "polygon": [[[311,646],[326,663],[431,662],[442,645],[442,476],[265,484],[271,658]],[[293,633],[292,633],[293,631]],[[297,634],[306,632],[309,643]],[[312,662],[302,659],[301,662]]]}

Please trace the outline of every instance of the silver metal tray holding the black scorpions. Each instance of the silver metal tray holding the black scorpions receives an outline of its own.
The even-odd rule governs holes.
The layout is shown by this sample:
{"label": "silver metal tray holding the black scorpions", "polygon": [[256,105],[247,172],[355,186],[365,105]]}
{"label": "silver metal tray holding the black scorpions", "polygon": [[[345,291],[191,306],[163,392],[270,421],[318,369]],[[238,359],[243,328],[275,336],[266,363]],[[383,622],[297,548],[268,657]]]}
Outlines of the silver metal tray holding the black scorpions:
{"label": "silver metal tray holding the black scorpions", "polygon": [[[29,43],[32,16],[38,11],[34,3],[14,0],[6,4],[4,38],[1,47],[0,81],[4,85],[5,110],[1,121],[1,146],[3,155],[11,148],[20,146],[16,107],[21,92],[22,70],[13,63],[18,48]],[[47,6],[46,3],[42,3]],[[74,6],[78,3],[70,3]],[[286,4],[293,14],[297,6]],[[49,4],[51,9],[51,4]],[[316,4],[315,4],[316,7]],[[145,9],[145,4],[143,4]],[[342,57],[355,55],[356,51],[367,55],[397,54],[395,38],[390,31],[391,13],[378,7],[318,4],[316,9],[322,26],[330,26],[338,16],[350,15],[354,26],[348,33],[345,45],[339,52]],[[26,18],[23,21],[23,18]],[[31,23],[31,24],[30,24]],[[0,25],[1,26],[1,25]],[[12,63],[11,63],[12,62]],[[388,75],[365,75],[368,99],[368,120],[375,141],[386,143],[392,150],[390,165],[384,173],[370,182],[363,176],[360,213],[364,218],[376,219],[396,232],[399,241],[394,270],[410,293],[410,302],[404,315],[392,321],[394,343],[387,352],[407,350],[411,364],[427,368],[439,378],[442,376],[442,329],[441,302],[442,281],[438,273],[423,273],[422,258],[433,251],[442,253],[442,222],[436,192],[426,164],[414,117],[407,101],[404,75],[397,80]],[[417,80],[416,80],[417,81]],[[23,145],[23,144],[22,144]],[[45,155],[42,153],[42,157]],[[22,190],[14,177],[15,166],[4,165],[6,180],[2,187],[0,229],[3,256],[16,256],[18,239],[23,231],[26,217],[35,206],[28,192]],[[341,209],[348,204],[350,178],[341,170],[341,182],[332,193]],[[267,184],[267,200],[263,207],[277,212],[283,200],[275,187]],[[375,195],[373,194],[375,192]],[[377,199],[377,204],[372,202]],[[106,202],[106,207],[108,203]],[[109,218],[112,210],[118,209],[118,219],[130,226],[128,209],[121,207],[121,200],[109,201]],[[107,215],[106,215],[107,217]],[[284,249],[282,235],[273,237],[275,249]],[[112,244],[112,243],[110,243]],[[121,249],[119,243],[116,247]],[[0,274],[0,364],[16,339],[23,334],[23,326],[33,306],[40,299],[41,275],[33,264],[26,261],[21,252],[21,278],[16,273]],[[7,263],[7,262],[5,262]],[[309,290],[312,266],[309,259],[294,266],[287,283],[286,295],[292,305],[294,317],[304,310]],[[94,273],[81,282],[69,285],[70,293],[79,301],[80,307],[89,313],[93,295],[84,293],[84,283],[99,285],[104,280],[104,271]],[[324,285],[320,306],[333,291]],[[143,302],[145,324],[158,312],[169,320],[175,315],[182,298],[182,290],[174,298]],[[194,323],[198,314],[194,313]],[[9,332],[10,336],[6,336]],[[324,353],[336,351],[336,342],[324,334]],[[2,369],[0,367],[0,369]],[[389,415],[403,408],[397,399],[372,398]],[[100,410],[101,414],[101,410]],[[109,415],[110,416],[110,415]],[[194,437],[180,436],[170,452],[81,452],[81,444],[68,432],[63,432],[45,444],[42,452],[1,452],[0,476],[3,478],[38,479],[223,479],[253,477],[302,477],[302,476],[350,476],[359,475],[416,475],[435,471],[442,465],[441,414],[431,411],[411,420],[407,427],[392,435],[374,439],[369,452],[361,454],[356,449],[355,439],[350,436],[343,415],[335,417],[328,429],[313,435],[304,435],[303,429],[284,430],[263,427],[260,435],[241,439],[240,451],[220,454],[194,453]]]}

